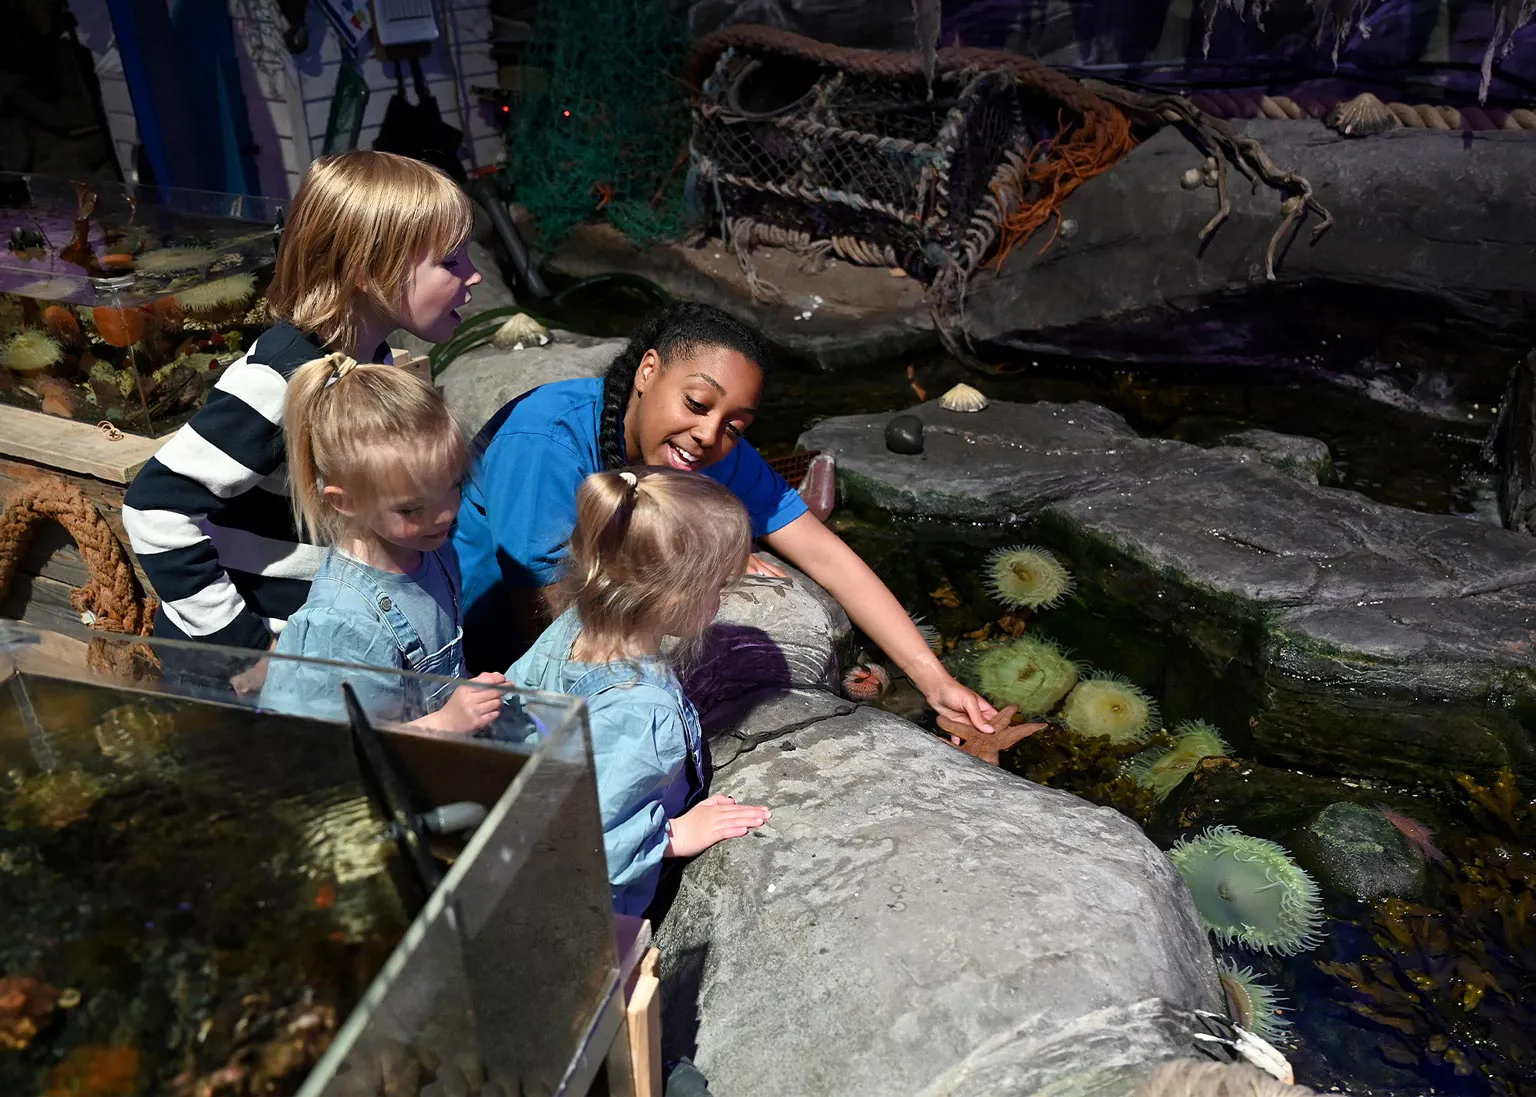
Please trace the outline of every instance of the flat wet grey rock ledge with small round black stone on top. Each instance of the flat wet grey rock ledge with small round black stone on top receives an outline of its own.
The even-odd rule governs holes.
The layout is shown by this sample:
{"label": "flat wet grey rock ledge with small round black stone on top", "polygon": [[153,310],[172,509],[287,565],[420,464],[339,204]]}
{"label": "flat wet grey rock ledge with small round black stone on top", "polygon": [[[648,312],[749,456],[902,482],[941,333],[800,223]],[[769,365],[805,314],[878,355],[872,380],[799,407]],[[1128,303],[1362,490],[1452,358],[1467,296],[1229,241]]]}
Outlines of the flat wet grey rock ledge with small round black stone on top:
{"label": "flat wet grey rock ledge with small round black stone on top", "polygon": [[1043,627],[1167,719],[1324,773],[1536,770],[1530,538],[1138,438],[1092,404],[914,413],[920,456],[886,452],[883,415],[802,441],[836,452],[845,504],[1029,525],[1080,579]]}

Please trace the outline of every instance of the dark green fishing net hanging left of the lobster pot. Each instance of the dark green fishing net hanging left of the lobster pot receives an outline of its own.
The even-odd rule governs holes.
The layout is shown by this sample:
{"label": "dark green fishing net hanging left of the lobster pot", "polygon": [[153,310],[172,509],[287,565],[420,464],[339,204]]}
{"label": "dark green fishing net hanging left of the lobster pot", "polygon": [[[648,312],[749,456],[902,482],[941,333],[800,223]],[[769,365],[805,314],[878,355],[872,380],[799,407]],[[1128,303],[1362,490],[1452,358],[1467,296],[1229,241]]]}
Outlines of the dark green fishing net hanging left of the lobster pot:
{"label": "dark green fishing net hanging left of the lobster pot", "polygon": [[510,131],[516,198],[547,243],[607,220],[636,243],[682,229],[687,32],[656,0],[539,0],[527,94]]}

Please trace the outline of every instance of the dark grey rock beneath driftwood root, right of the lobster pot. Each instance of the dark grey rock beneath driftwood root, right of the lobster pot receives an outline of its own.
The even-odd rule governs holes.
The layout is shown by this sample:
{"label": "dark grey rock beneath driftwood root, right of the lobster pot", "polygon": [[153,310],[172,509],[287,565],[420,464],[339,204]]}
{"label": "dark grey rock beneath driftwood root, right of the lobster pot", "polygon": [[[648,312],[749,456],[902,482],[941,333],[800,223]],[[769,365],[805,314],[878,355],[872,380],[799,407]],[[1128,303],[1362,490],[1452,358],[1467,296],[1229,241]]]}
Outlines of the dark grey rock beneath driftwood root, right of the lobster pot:
{"label": "dark grey rock beneath driftwood root, right of the lobster pot", "polygon": [[[1495,295],[1536,292],[1536,269],[1522,266],[1536,246],[1536,221],[1521,215],[1536,203],[1536,134],[1401,129],[1355,140],[1316,121],[1272,120],[1238,129],[1310,180],[1336,218],[1316,244],[1307,243],[1316,218],[1303,220],[1301,235],[1281,247],[1281,284],[1392,287],[1471,313]],[[1087,333],[1083,326],[1101,317],[1263,287],[1279,197],[1233,184],[1232,215],[1201,246],[1215,191],[1180,184],[1200,158],[1169,128],[1078,187],[1061,206],[1078,226],[1071,238],[1044,250],[1014,249],[995,278],[972,283],[969,333],[1038,346],[1041,332]],[[1201,338],[1187,318],[1181,327],[1186,343]]]}

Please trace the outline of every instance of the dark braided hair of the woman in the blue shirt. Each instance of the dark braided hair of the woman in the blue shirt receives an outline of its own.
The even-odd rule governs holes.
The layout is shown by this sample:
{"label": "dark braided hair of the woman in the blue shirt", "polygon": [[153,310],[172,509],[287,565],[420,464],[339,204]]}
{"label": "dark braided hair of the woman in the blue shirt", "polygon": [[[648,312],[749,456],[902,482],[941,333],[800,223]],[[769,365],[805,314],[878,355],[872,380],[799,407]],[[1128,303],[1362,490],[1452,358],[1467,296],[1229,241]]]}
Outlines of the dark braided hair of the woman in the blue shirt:
{"label": "dark braided hair of the woman in the blue shirt", "polygon": [[656,309],[641,320],[630,335],[630,344],[619,352],[602,375],[602,423],[598,430],[598,452],[605,470],[630,464],[624,446],[624,415],[630,410],[634,373],[647,350],[654,350],[662,364],[677,355],[693,355],[705,347],[734,350],[746,361],[768,372],[770,352],[763,338],[736,317],[713,304],[677,301]]}

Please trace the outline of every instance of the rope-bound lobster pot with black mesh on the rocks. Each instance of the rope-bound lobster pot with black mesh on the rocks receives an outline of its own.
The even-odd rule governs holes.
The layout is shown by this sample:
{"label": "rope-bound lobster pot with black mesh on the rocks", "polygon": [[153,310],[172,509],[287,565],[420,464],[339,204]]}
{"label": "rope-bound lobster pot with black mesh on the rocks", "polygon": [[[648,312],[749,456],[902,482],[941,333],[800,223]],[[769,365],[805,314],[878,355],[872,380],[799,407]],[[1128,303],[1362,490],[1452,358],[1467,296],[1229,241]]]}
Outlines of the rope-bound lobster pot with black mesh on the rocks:
{"label": "rope-bound lobster pot with black mesh on the rocks", "polygon": [[694,108],[693,167],[734,244],[900,266],[974,266],[994,184],[1028,134],[1011,72],[876,75],[727,51]]}

